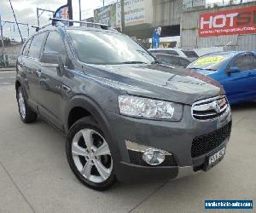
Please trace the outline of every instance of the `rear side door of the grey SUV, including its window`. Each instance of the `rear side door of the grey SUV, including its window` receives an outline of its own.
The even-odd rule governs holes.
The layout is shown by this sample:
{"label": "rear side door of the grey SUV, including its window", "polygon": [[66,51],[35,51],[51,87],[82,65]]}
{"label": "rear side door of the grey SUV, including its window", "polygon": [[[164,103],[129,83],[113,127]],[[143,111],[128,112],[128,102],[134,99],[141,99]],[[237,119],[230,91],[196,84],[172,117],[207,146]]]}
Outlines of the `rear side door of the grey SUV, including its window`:
{"label": "rear side door of the grey SUV, including its window", "polygon": [[30,48],[27,50],[27,56],[23,58],[23,65],[26,66],[26,79],[30,94],[30,103],[32,107],[38,105],[38,82],[41,75],[41,66],[39,58],[41,55],[42,43],[46,33],[42,32],[32,38]]}

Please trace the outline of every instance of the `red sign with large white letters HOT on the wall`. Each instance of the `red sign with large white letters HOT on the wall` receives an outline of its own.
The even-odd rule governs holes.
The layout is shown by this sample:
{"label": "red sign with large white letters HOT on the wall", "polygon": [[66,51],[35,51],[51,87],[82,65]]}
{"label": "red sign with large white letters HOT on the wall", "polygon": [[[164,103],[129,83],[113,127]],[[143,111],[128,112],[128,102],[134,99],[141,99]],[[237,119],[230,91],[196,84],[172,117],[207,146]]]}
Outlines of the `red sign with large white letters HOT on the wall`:
{"label": "red sign with large white letters HOT on the wall", "polygon": [[256,6],[200,14],[200,37],[249,33],[256,33]]}

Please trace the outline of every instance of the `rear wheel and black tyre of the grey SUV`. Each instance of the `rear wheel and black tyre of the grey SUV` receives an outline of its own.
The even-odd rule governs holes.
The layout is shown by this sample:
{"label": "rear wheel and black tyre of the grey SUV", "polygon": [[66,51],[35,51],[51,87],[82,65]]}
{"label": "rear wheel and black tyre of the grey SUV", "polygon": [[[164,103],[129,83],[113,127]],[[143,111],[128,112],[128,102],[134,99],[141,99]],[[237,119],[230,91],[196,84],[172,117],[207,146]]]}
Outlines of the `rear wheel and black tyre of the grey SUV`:
{"label": "rear wheel and black tyre of the grey SUV", "polygon": [[21,86],[16,91],[16,98],[21,120],[25,124],[31,124],[35,122],[38,118],[38,114],[32,111],[32,109],[27,105],[26,96],[24,95],[24,91]]}

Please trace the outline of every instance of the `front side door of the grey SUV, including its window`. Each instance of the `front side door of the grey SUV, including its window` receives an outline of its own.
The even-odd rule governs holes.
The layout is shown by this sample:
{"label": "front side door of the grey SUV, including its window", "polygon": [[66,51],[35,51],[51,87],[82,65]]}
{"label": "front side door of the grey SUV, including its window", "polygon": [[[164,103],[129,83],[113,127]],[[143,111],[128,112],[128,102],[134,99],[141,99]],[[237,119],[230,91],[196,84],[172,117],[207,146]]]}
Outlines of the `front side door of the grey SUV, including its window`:
{"label": "front side door of the grey SUV, including its window", "polygon": [[[64,64],[67,60],[67,49],[58,32],[49,32],[43,52],[56,52],[61,55]],[[69,90],[65,81],[67,77],[60,72],[59,67],[41,66],[39,112],[59,129],[64,124],[64,107]]]}

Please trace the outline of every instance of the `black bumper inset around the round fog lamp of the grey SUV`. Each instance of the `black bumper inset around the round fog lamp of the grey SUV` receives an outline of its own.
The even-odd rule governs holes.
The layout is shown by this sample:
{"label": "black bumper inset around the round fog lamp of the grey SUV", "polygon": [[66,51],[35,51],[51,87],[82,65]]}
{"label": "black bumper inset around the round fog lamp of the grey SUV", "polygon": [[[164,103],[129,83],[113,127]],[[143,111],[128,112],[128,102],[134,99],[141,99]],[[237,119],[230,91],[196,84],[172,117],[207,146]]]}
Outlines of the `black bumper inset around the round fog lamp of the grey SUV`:
{"label": "black bumper inset around the round fog lamp of the grey SUV", "polygon": [[[153,165],[147,164],[143,160],[143,153],[133,151],[130,149],[128,149],[128,153],[129,153],[131,164],[137,164],[137,165],[143,165],[143,166],[153,166]],[[162,164],[154,165],[154,167],[155,166],[177,166],[177,163],[172,155],[166,155],[165,161]]]}

